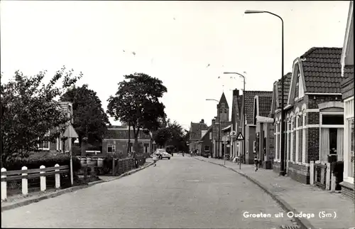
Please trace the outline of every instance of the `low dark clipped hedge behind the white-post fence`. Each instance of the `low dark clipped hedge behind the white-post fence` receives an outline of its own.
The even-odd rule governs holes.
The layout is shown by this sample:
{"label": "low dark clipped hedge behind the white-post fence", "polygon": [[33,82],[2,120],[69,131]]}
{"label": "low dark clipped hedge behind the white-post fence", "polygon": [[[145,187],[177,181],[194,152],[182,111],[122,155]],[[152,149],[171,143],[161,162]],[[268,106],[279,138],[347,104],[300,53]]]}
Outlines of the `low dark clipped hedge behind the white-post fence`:
{"label": "low dark clipped hedge behind the white-post fence", "polygon": [[[10,170],[21,170],[23,166],[27,166],[28,169],[39,169],[40,166],[54,167],[55,164],[60,166],[70,166],[70,156],[68,155],[57,155],[57,156],[45,156],[41,158],[26,158],[26,159],[10,159],[6,161],[5,169]],[[74,172],[82,169],[82,164],[80,159],[76,156],[72,157],[72,170]]]}

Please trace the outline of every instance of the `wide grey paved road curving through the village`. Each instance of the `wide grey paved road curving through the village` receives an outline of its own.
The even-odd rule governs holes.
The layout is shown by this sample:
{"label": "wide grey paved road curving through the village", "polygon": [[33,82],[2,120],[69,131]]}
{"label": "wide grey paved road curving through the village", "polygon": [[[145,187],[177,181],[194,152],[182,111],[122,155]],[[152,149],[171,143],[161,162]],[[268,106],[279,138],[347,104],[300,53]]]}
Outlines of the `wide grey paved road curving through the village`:
{"label": "wide grey paved road curving through the village", "polygon": [[131,176],[1,213],[11,228],[280,228],[284,212],[244,177],[175,155]]}

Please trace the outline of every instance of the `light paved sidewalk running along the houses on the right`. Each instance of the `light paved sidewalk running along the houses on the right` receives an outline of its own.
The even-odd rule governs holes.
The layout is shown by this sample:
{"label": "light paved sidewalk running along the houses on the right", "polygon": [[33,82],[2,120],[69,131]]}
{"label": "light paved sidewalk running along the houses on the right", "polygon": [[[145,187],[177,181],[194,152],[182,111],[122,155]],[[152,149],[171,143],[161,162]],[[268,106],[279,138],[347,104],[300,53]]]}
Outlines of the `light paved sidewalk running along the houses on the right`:
{"label": "light paved sidewalk running along the houses on the right", "polygon": [[[221,159],[207,159],[202,156],[195,156],[195,159],[221,166],[224,165],[224,160]],[[253,165],[241,164],[241,169],[239,169],[239,164],[226,161],[225,167],[233,169],[261,186],[288,211],[313,213],[314,217],[298,217],[298,220],[307,228],[335,229],[355,227],[354,202],[342,196],[341,193],[331,193],[317,186],[294,181],[287,176],[278,176],[273,170],[258,169],[258,171],[255,171]],[[332,213],[332,218],[320,218],[323,211]],[[335,218],[334,213],[336,213]]]}

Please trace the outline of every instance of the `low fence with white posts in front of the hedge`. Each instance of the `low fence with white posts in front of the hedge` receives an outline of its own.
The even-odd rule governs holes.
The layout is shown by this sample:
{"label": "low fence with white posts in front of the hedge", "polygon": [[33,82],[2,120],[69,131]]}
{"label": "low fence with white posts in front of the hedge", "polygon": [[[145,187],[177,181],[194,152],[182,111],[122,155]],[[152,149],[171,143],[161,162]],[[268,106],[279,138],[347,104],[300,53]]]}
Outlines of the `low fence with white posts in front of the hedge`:
{"label": "low fence with white posts in front of the hedge", "polygon": [[40,169],[27,169],[23,166],[21,170],[6,171],[1,168],[1,201],[7,198],[7,183],[9,181],[22,180],[21,188],[23,196],[28,195],[28,179],[40,178],[40,191],[45,191],[47,188],[46,177],[55,176],[55,188],[60,188],[60,174],[69,174],[69,166],[59,166],[45,168],[40,166]]}

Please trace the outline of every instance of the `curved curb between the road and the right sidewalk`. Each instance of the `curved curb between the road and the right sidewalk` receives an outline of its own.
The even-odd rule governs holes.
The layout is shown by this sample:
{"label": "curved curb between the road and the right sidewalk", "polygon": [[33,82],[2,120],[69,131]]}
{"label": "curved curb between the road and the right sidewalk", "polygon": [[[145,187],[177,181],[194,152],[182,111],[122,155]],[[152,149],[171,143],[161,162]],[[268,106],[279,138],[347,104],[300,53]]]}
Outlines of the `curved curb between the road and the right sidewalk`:
{"label": "curved curb between the road and the right sidewalk", "polygon": [[[197,158],[195,158],[197,159]],[[197,159],[199,161],[204,161],[202,159]],[[286,211],[292,211],[293,213],[299,213],[295,208],[293,208],[292,206],[290,206],[290,204],[288,204],[286,201],[284,201],[282,198],[280,198],[278,195],[276,195],[275,193],[273,193],[272,191],[268,190],[268,188],[266,188],[266,186],[264,186],[262,183],[260,183],[259,181],[256,181],[256,179],[251,178],[250,176],[244,174],[241,171],[237,171],[235,169],[229,168],[227,166],[224,166],[223,164],[218,164],[212,161],[205,161],[211,164],[216,164],[218,166],[222,166],[226,169],[229,169],[231,171],[236,172],[237,174],[240,174],[241,176],[244,176],[246,179],[248,179],[249,181],[255,183],[257,186],[259,186],[261,189],[263,189],[263,191],[265,191],[266,193],[268,193],[269,196],[271,196],[271,198],[273,198],[276,202],[278,202],[280,204],[280,206],[286,210]],[[315,228],[309,220],[305,219],[305,218],[296,218],[294,217],[295,221],[300,225],[300,228],[302,229],[310,229],[310,228]]]}

